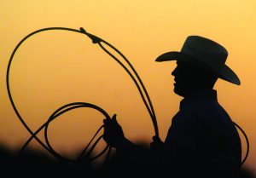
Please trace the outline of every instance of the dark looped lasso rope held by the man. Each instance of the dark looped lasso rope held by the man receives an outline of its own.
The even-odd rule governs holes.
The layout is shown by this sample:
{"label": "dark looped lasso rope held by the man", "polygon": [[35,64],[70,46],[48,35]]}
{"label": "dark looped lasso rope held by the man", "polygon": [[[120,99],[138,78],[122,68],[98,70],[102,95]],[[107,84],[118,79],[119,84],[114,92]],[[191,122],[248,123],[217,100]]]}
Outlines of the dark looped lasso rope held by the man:
{"label": "dark looped lasso rope held by the man", "polygon": [[[69,103],[65,106],[61,106],[60,108],[58,108],[48,119],[47,122],[45,122],[40,128],[38,128],[37,131],[32,132],[32,130],[28,127],[28,125],[26,124],[26,122],[24,121],[24,119],[20,116],[20,113],[18,112],[16,106],[15,106],[15,102],[13,100],[13,97],[11,95],[10,92],[10,86],[9,86],[9,72],[10,72],[10,66],[12,64],[13,58],[15,56],[16,51],[19,49],[20,45],[22,43],[24,43],[26,41],[26,39],[28,37],[32,37],[32,35],[35,35],[39,32],[45,32],[45,31],[53,31],[53,30],[61,30],[61,31],[70,31],[70,32],[78,32],[81,34],[86,35],[87,37],[90,37],[90,39],[92,40],[92,43],[96,43],[98,44],[101,49],[103,49],[108,55],[110,55],[113,60],[117,61],[119,63],[120,66],[122,66],[125,69],[125,72],[127,72],[129,74],[129,76],[131,77],[131,79],[133,80],[133,82],[136,84],[137,89],[140,93],[141,98],[143,99],[143,103],[146,106],[147,110],[148,110],[148,114],[152,120],[152,123],[154,125],[154,132],[155,132],[155,136],[159,137],[159,130],[158,130],[158,125],[157,125],[157,120],[156,120],[156,116],[154,113],[154,107],[152,105],[152,102],[150,100],[150,97],[148,95],[147,89],[145,88],[143,81],[141,80],[141,78],[139,77],[139,75],[137,74],[137,71],[135,70],[135,68],[131,65],[131,62],[129,60],[127,60],[127,58],[125,57],[125,55],[123,55],[118,49],[116,49],[115,47],[113,47],[112,44],[106,42],[105,40],[103,40],[100,37],[96,37],[95,35],[92,35],[88,32],[86,32],[84,30],[84,28],[80,28],[80,30],[77,29],[72,29],[72,28],[67,28],[67,27],[49,27],[49,28],[42,28],[39,29],[35,32],[32,32],[30,34],[28,34],[26,37],[24,37],[20,43],[18,43],[12,53],[12,55],[10,56],[9,59],[9,64],[7,67],[7,75],[6,75],[6,83],[7,83],[7,90],[8,90],[8,95],[9,95],[9,100],[11,102],[11,105],[13,106],[15,113],[17,115],[17,117],[20,119],[20,122],[24,125],[24,127],[26,128],[26,130],[31,134],[31,137],[26,141],[26,143],[22,146],[22,148],[20,149],[20,153],[23,152],[26,148],[26,146],[30,143],[30,141],[32,141],[32,139],[35,139],[36,141],[38,141],[38,143],[43,146],[49,153],[51,153],[53,156],[55,156],[55,158],[58,158],[61,161],[67,161],[67,162],[72,162],[72,163],[79,163],[80,159],[83,157],[84,153],[87,151],[87,149],[89,148],[90,144],[92,143],[92,141],[96,138],[96,135],[100,132],[100,130],[103,128],[103,125],[96,131],[96,134],[93,136],[93,138],[90,140],[90,142],[88,143],[87,146],[84,147],[84,150],[79,154],[79,157],[76,160],[72,160],[69,158],[65,158],[63,156],[61,156],[61,154],[59,154],[58,152],[55,152],[55,150],[53,149],[53,147],[50,145],[49,140],[48,140],[48,126],[49,123],[52,122],[55,118],[61,116],[62,114],[64,114],[65,112],[71,111],[73,109],[76,108],[80,108],[80,107],[89,107],[89,108],[93,108],[98,112],[101,112],[102,115],[107,118],[107,119],[111,119],[111,117],[108,115],[107,112],[105,112],[101,107],[93,105],[91,103],[86,103],[86,102],[73,102],[73,103]],[[108,49],[104,48],[104,46],[102,45],[102,43],[107,44],[110,48],[112,48],[114,51],[116,51],[126,62],[126,65],[128,65],[131,68],[131,71],[125,66],[125,64],[123,64],[115,55],[113,55],[112,53],[110,53],[108,51]],[[233,122],[234,123],[234,122]],[[247,152],[245,155],[245,158],[243,158],[243,160],[241,161],[241,165],[245,163],[248,153],[249,153],[249,141],[247,139],[247,135],[244,132],[243,129],[241,129],[241,127],[237,124],[234,123],[236,125],[236,127],[238,129],[241,130],[241,133],[245,136],[246,141],[247,141]],[[44,129],[44,139],[46,142],[46,145],[44,144],[43,141],[41,141],[37,135],[38,133]],[[100,141],[102,139],[102,135],[100,137],[98,137],[98,139],[95,141],[95,143],[90,147],[89,152],[87,152],[85,158],[90,158],[90,153],[93,151],[93,149],[95,148],[96,144],[98,143],[98,141]],[[108,161],[108,156],[109,153],[111,151],[111,146],[106,146],[102,152],[100,152],[98,155],[96,155],[93,158],[90,158],[90,161],[95,160],[96,158],[101,157],[104,152],[106,152],[108,150],[108,154],[106,157],[105,162]]]}

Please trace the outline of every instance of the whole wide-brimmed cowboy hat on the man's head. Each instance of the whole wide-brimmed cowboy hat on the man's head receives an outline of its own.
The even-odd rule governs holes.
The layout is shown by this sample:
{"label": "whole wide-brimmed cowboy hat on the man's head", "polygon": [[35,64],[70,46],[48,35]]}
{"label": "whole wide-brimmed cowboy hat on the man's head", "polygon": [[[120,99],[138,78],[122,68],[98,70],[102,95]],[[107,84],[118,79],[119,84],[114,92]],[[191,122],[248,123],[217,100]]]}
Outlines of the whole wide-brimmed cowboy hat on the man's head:
{"label": "whole wide-brimmed cowboy hat on the man's head", "polygon": [[240,80],[229,66],[225,65],[228,51],[222,45],[200,36],[189,36],[180,52],[172,51],[160,55],[155,61],[177,60],[185,64],[204,67],[230,83],[240,85]]}

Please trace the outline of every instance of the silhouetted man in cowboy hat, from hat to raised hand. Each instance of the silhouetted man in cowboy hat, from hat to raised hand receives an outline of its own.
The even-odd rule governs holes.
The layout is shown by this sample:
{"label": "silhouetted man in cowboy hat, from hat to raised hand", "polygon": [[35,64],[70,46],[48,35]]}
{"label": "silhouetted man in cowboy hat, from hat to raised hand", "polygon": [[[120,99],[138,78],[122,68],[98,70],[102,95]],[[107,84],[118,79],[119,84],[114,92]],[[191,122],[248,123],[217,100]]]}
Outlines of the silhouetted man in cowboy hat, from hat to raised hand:
{"label": "silhouetted man in cowboy hat, from hat to raised hand", "polygon": [[[183,97],[165,141],[154,136],[150,150],[127,138],[116,120],[105,119],[103,139],[116,148],[117,157],[148,175],[168,177],[239,177],[241,141],[230,116],[213,89],[218,78],[240,85],[225,65],[228,52],[211,39],[189,36],[180,52],[160,55],[156,61],[176,60],[174,93]],[[146,166],[145,166],[146,165]],[[131,168],[124,174],[132,171]],[[120,175],[122,176],[122,175]]]}

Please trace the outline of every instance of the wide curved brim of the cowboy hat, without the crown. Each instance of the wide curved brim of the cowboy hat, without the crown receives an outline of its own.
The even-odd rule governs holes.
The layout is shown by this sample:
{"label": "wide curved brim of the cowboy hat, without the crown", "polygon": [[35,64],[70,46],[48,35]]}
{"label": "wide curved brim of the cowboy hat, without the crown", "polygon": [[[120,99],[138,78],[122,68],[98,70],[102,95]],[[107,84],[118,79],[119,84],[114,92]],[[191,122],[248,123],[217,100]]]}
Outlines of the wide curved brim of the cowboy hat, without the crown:
{"label": "wide curved brim of the cowboy hat, without the crown", "polygon": [[163,55],[160,55],[155,61],[163,62],[163,61],[170,61],[170,60],[177,60],[191,66],[207,69],[207,71],[214,72],[215,74],[217,74],[218,78],[221,78],[230,83],[234,83],[236,85],[241,84],[240,79],[237,77],[236,73],[230,69],[229,66],[224,65],[220,70],[219,69],[217,70],[212,66],[209,66],[206,63],[203,63],[201,60],[197,60],[193,56],[186,55],[181,52],[177,52],[177,51],[167,52]]}

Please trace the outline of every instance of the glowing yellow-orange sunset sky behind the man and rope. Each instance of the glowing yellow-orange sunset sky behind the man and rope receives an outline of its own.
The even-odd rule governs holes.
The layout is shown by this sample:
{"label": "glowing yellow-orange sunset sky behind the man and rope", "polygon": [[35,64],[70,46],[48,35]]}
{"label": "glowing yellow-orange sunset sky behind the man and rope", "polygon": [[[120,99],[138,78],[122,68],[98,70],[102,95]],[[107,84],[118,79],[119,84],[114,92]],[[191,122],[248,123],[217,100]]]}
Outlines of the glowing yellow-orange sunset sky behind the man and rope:
{"label": "glowing yellow-orange sunset sky behind the man and rope", "polygon": [[[0,141],[4,144],[16,148],[29,136],[11,107],[5,78],[12,51],[30,32],[51,26],[83,26],[112,43],[143,79],[163,140],[182,98],[172,92],[175,64],[154,60],[162,53],[181,49],[187,36],[201,35],[228,49],[226,64],[241,79],[241,86],[219,80],[215,89],[219,102],[247,133],[251,147],[246,165],[256,167],[255,1],[9,0],[1,1],[0,9]],[[110,115],[117,113],[132,141],[149,143],[154,135],[131,78],[78,33],[42,32],[29,38],[15,55],[10,85],[17,109],[32,130],[58,107],[84,101],[101,106]],[[57,151],[72,152],[74,147],[84,146],[101,124],[102,116],[90,109],[68,112],[49,126],[49,140]],[[40,138],[44,140],[42,134]],[[31,145],[38,146],[36,141]]]}

